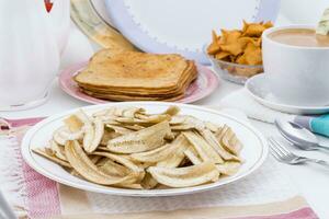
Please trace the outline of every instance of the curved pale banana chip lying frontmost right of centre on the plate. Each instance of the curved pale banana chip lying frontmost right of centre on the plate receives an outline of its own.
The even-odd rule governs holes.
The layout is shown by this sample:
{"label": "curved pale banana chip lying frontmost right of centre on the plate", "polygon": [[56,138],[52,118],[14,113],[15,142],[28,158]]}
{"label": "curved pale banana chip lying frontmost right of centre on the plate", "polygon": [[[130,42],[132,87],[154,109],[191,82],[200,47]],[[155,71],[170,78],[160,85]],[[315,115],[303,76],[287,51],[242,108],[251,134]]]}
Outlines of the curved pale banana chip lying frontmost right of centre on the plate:
{"label": "curved pale banana chip lying frontmost right of centre on the plate", "polygon": [[203,162],[201,164],[177,169],[150,166],[147,171],[159,183],[170,187],[195,186],[207,182],[216,182],[219,177],[219,172],[212,162]]}

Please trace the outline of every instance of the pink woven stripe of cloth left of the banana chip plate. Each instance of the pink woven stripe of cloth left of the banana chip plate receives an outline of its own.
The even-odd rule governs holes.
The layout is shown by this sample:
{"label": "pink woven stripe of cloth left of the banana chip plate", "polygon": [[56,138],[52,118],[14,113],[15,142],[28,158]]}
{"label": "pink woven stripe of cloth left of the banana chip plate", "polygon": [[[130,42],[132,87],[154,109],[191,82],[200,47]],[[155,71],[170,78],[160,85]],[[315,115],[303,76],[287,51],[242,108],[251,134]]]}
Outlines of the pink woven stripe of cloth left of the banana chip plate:
{"label": "pink woven stripe of cloth left of the banana chip plate", "polygon": [[[42,119],[43,118],[34,118],[33,120],[24,119],[21,123],[15,123],[15,127],[33,125]],[[22,137],[22,135],[16,136],[18,147],[21,146]],[[24,162],[22,157],[21,162],[24,173],[29,218],[46,218],[60,215],[57,183],[35,172]]]}

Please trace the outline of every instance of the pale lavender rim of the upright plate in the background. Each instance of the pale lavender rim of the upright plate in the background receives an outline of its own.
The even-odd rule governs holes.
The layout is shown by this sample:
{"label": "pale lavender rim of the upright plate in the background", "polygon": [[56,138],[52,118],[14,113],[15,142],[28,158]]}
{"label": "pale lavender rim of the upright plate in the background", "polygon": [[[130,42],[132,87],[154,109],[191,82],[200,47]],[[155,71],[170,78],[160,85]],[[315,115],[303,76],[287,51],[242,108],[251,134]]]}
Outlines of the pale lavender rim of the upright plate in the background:
{"label": "pale lavender rim of the upright plate in the background", "polygon": [[[256,14],[253,21],[275,21],[279,14],[280,0],[258,0],[259,4],[256,7]],[[273,7],[275,5],[275,7]],[[123,0],[105,0],[107,14],[114,26],[136,47],[148,53],[179,53],[188,58],[194,59],[201,64],[209,65],[209,60],[203,54],[202,48],[195,51],[188,51],[175,47],[170,47],[166,43],[159,43],[148,36],[141,28],[139,28],[131,18],[126,10]],[[269,10],[271,8],[271,10]],[[120,19],[116,18],[116,12],[120,11]],[[266,11],[266,12],[265,12]],[[127,27],[124,27],[127,26]],[[147,42],[143,44],[141,42]],[[151,45],[151,46],[150,46]]]}

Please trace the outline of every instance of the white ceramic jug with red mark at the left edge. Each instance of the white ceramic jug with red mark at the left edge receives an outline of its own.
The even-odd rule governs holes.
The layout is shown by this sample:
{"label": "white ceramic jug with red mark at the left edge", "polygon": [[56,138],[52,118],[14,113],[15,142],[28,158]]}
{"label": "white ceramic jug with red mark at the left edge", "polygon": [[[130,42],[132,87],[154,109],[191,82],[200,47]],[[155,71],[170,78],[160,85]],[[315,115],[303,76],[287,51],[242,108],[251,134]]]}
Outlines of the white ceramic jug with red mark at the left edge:
{"label": "white ceramic jug with red mark at the left edge", "polygon": [[69,26],[69,0],[0,0],[0,111],[47,100]]}

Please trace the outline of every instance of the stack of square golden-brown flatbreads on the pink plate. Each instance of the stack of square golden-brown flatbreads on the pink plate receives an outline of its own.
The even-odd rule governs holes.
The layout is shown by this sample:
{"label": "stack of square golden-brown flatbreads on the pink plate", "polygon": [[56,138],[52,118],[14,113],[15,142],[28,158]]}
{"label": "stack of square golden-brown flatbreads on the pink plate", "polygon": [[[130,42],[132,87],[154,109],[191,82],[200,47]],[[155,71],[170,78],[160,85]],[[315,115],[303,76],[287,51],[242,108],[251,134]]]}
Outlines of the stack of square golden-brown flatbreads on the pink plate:
{"label": "stack of square golden-brown flatbreads on the pink plate", "polygon": [[197,77],[194,61],[180,55],[97,53],[75,77],[81,91],[111,101],[177,101]]}

